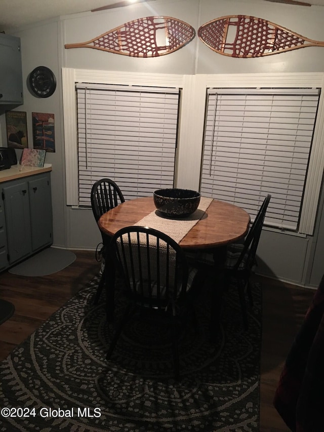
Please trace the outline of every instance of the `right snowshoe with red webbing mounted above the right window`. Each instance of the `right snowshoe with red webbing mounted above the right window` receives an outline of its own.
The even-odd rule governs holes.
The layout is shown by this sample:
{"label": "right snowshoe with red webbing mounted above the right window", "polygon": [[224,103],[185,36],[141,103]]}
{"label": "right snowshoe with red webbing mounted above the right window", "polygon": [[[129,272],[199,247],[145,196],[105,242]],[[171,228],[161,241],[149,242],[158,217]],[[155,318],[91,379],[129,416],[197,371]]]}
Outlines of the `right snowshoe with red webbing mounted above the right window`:
{"label": "right snowshoe with red webbing mounted above the right window", "polygon": [[313,41],[273,22],[248,15],[228,15],[209,21],[199,27],[198,37],[216,53],[238,58],[324,47],[324,42]]}

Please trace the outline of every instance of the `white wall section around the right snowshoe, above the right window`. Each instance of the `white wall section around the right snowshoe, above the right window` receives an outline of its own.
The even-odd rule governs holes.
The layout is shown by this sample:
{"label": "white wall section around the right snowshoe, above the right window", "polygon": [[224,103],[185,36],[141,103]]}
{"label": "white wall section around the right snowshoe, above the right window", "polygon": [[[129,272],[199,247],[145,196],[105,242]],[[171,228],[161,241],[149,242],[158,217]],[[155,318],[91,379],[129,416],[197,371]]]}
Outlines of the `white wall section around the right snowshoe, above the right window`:
{"label": "white wall section around the right snowshoe, above the right window", "polygon": [[[246,0],[204,2],[200,25],[225,15],[264,18],[303,36],[324,40],[324,7],[321,6],[302,7]],[[211,55],[211,49],[199,43],[197,73],[322,72],[324,56],[321,51],[317,47],[308,47],[265,57],[240,59],[217,53]]]}

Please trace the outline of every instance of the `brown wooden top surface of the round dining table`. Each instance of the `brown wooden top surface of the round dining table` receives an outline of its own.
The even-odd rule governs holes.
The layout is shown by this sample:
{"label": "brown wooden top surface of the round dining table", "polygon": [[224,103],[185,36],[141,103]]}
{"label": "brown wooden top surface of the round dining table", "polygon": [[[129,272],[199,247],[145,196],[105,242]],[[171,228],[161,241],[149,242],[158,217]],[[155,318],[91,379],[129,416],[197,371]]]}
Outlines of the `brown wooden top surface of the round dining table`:
{"label": "brown wooden top surface of the round dining table", "polygon": [[[99,219],[99,228],[113,235],[118,229],[135,225],[155,210],[153,197],[119,204]],[[177,220],[175,219],[175,223]],[[205,215],[190,229],[179,245],[185,249],[213,248],[235,242],[246,235],[250,215],[240,207],[213,200]]]}

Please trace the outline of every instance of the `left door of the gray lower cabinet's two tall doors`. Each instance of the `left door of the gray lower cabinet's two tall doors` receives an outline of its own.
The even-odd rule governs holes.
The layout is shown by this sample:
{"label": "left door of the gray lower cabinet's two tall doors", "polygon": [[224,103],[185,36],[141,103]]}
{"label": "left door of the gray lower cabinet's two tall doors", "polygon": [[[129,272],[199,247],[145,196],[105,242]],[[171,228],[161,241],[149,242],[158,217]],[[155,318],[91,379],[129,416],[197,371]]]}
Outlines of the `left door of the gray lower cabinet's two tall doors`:
{"label": "left door of the gray lower cabinet's two tall doors", "polygon": [[3,188],[7,221],[9,262],[13,263],[31,253],[28,184],[13,181]]}

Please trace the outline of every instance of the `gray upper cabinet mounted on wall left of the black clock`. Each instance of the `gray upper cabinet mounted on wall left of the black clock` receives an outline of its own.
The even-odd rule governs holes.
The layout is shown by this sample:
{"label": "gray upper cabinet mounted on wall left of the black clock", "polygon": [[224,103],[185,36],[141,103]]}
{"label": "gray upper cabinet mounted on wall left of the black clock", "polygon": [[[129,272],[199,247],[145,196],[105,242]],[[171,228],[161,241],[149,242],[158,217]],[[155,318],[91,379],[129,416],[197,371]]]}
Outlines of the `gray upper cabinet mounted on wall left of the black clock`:
{"label": "gray upper cabinet mounted on wall left of the black clock", "polygon": [[0,113],[23,102],[20,37],[0,33]]}

